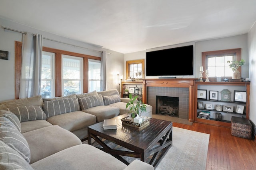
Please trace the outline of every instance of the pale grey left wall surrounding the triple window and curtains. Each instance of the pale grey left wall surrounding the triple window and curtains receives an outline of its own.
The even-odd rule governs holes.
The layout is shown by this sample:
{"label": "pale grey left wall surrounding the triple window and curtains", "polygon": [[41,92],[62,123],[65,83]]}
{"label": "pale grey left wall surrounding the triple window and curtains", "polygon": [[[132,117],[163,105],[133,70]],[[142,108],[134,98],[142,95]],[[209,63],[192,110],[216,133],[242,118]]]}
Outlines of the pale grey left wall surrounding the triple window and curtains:
{"label": "pale grey left wall surrounding the triple window and curtains", "polygon": [[[82,43],[80,41],[74,41],[66,37],[60,37],[58,35],[44,32],[39,29],[34,29],[32,27],[27,27],[26,25],[14,23],[12,21],[5,20],[2,18],[0,18],[0,26],[8,27],[8,28],[23,31],[23,32],[31,32],[33,34],[36,34],[36,33],[42,34],[44,38],[53,39],[56,41],[78,46],[78,47],[74,47],[72,45],[66,45],[63,43],[43,39],[44,47],[71,51],[74,53],[82,53],[82,54],[92,55],[96,57],[100,57],[100,52],[96,52],[96,51],[105,50],[107,53],[110,53],[110,54],[107,54],[107,89],[117,88],[116,71],[123,70],[124,54],[111,51],[108,49],[104,49],[97,45],[91,45],[88,43]],[[9,51],[9,60],[0,60],[0,102],[6,101],[6,100],[12,100],[15,98],[14,41],[22,41],[22,33],[0,28],[0,50]],[[83,48],[80,48],[80,47],[83,47]],[[94,49],[96,51],[92,51],[89,49]]]}

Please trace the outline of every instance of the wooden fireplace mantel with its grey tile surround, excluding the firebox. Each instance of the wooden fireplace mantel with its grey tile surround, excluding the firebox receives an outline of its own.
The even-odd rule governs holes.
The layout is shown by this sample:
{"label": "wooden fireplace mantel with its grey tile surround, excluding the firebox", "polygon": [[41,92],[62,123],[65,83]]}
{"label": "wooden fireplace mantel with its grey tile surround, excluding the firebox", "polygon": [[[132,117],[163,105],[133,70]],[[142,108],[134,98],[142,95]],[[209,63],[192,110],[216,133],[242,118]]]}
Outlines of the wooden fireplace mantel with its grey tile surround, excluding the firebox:
{"label": "wooden fireplace mantel with its grey tile surround, excluding the firebox", "polygon": [[156,113],[156,96],[179,97],[179,118],[194,122],[194,91],[196,78],[143,79],[144,103]]}

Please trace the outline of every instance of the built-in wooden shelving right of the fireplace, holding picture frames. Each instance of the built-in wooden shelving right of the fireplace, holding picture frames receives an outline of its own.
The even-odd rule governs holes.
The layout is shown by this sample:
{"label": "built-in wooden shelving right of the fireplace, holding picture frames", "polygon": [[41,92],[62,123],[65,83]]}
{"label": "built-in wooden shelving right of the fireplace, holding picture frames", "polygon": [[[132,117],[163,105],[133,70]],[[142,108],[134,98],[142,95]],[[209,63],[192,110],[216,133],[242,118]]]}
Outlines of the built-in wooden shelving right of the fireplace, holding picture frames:
{"label": "built-in wooden shelving right of the fireplace, holding picture frames", "polygon": [[[221,100],[221,91],[223,89],[228,89],[231,92],[231,101]],[[207,98],[198,99],[197,91],[207,90]],[[218,91],[218,100],[209,100],[209,91]],[[234,91],[245,91],[246,92],[246,102],[234,102]],[[249,119],[249,107],[250,107],[250,82],[195,82],[195,106],[194,106],[194,121],[200,123],[207,123],[212,125],[219,125],[224,127],[230,127],[230,120],[232,116],[244,117]],[[203,105],[212,104],[212,109],[206,109],[206,107],[199,109],[198,102],[203,102]],[[222,110],[216,110],[214,106],[222,105]],[[233,111],[224,111],[223,106],[232,106]],[[243,113],[236,113],[236,107],[244,106]],[[198,113],[202,110],[210,111],[210,120],[198,118]],[[220,112],[223,116],[221,121],[216,121],[214,114]]]}

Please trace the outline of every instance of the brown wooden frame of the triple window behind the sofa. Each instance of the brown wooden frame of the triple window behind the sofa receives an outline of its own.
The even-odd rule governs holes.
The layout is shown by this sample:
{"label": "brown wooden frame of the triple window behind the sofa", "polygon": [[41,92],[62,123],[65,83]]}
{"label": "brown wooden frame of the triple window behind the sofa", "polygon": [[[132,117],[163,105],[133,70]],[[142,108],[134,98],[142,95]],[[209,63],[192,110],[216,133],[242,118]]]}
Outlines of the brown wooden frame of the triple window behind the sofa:
{"label": "brown wooden frame of the triple window behind the sofa", "polygon": [[[83,57],[83,93],[88,92],[88,59],[100,60],[101,57],[85,55],[80,53],[74,53],[70,51],[64,51],[59,49],[53,49],[50,47],[43,47],[43,51],[55,53],[55,97],[62,96],[62,54],[71,55],[74,57]],[[15,41],[15,98],[19,99],[20,92],[20,75],[21,75],[21,54],[22,54],[22,42]]]}

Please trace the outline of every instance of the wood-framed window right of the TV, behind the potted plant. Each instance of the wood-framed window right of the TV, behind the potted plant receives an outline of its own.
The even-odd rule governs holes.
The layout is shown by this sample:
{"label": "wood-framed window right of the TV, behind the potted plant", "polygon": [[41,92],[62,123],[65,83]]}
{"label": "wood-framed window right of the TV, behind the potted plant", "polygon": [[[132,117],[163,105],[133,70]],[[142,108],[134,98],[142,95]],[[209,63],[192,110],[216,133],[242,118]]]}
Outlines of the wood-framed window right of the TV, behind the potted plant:
{"label": "wood-framed window right of the TV, behind the potted plant", "polygon": [[[202,52],[202,66],[209,70],[209,78],[231,78],[233,71],[227,61],[234,60],[241,60],[241,48]],[[241,67],[238,70],[241,72]]]}

